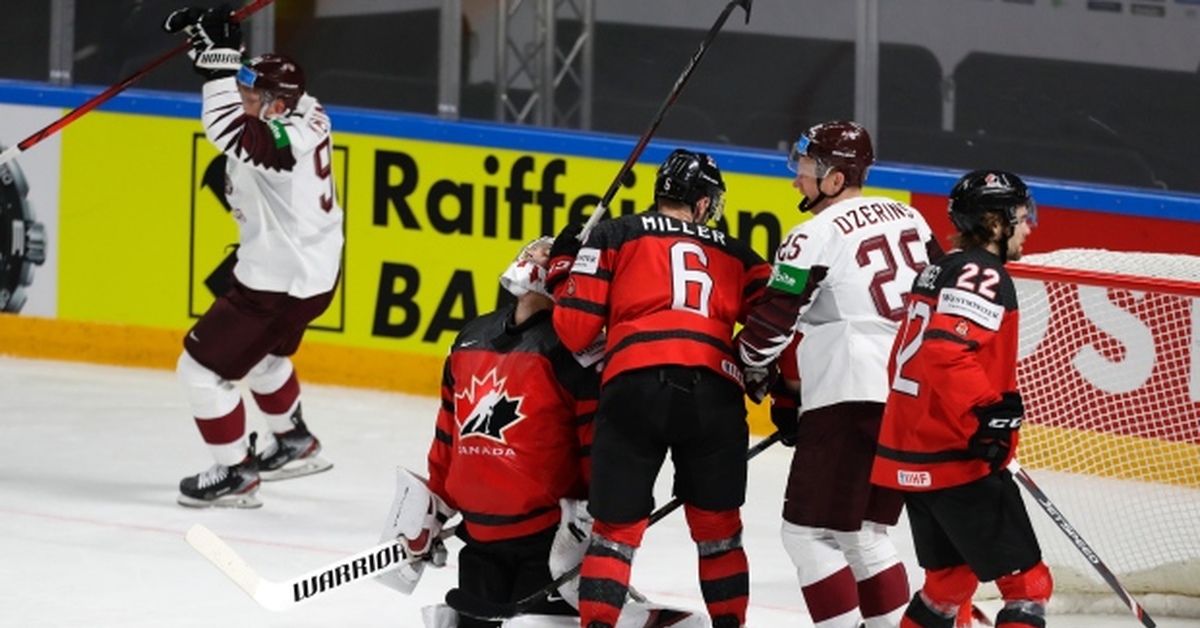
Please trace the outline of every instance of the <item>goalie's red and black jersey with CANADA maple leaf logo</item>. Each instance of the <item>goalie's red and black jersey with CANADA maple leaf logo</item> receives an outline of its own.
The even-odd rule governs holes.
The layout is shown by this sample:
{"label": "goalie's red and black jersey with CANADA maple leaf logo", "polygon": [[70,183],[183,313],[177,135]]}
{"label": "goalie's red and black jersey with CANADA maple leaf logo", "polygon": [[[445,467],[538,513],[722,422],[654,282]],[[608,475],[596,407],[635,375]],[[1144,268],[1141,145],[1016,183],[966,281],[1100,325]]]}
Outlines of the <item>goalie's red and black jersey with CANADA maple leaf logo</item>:
{"label": "goalie's red and black jersey with CANADA maple leaf logo", "polygon": [[554,335],[550,312],[512,324],[484,315],[450,347],[430,447],[430,489],[478,540],[532,534],[559,520],[558,500],[587,498],[600,376]]}

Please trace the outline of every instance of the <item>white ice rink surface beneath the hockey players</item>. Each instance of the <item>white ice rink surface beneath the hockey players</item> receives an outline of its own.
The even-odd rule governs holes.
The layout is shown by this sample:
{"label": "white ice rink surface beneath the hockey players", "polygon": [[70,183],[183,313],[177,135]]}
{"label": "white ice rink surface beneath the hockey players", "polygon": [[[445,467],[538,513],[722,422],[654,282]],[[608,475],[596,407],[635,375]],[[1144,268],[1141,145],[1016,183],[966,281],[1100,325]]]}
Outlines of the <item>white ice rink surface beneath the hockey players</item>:
{"label": "white ice rink surface beneath the hockey players", "polygon": [[[264,484],[260,509],[194,510],[175,503],[176,486],[211,460],[173,373],[0,358],[0,627],[420,628],[420,608],[455,582],[457,540],[449,566],[426,570],[412,597],[359,582],[281,614],[259,608],[184,542],[192,524],[204,524],[270,580],[378,542],[395,467],[425,469],[437,400],[307,384],[304,403],[331,472]],[[776,445],[750,465],[744,539],[755,628],[812,626],[778,536],[790,454]],[[660,480],[660,503],[667,486]],[[896,540],[918,584],[904,522]],[[673,514],[647,532],[632,584],[702,610],[695,562]],[[996,610],[995,602],[980,606]],[[1163,628],[1200,627],[1157,618]],[[1049,624],[1140,626],[1120,615]]]}

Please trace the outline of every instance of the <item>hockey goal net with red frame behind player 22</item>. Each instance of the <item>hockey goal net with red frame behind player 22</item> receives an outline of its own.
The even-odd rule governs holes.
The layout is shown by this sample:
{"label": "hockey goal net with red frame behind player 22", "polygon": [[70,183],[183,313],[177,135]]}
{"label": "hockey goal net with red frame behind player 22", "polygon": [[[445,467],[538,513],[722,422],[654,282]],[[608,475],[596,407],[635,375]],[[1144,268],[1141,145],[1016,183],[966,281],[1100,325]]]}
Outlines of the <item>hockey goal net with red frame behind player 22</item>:
{"label": "hockey goal net with red frame behind player 22", "polygon": [[[1200,617],[1200,257],[1063,250],[1008,268],[1021,465],[1148,611]],[[1027,507],[1051,610],[1128,612]]]}

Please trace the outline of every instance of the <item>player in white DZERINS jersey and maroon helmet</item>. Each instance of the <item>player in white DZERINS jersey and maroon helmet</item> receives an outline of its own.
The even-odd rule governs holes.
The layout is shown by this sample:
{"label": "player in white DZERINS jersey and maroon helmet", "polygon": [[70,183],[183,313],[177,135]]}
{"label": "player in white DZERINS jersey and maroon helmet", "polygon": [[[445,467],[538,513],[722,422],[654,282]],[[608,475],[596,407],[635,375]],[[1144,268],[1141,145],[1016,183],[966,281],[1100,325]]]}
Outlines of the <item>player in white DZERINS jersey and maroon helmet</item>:
{"label": "player in white DZERINS jersey and maroon helmet", "polygon": [[[888,537],[904,498],[872,486],[870,471],[904,297],[942,250],[916,209],[863,196],[874,161],[856,122],[822,122],[799,137],[788,167],[799,209],[812,217],[779,246],[767,295],[738,336],[743,363],[761,367],[803,334],[794,365],[803,413],[776,402],[772,419],[793,435],[781,534],[818,628],[894,628],[908,602]],[[793,393],[776,384],[772,394]]]}

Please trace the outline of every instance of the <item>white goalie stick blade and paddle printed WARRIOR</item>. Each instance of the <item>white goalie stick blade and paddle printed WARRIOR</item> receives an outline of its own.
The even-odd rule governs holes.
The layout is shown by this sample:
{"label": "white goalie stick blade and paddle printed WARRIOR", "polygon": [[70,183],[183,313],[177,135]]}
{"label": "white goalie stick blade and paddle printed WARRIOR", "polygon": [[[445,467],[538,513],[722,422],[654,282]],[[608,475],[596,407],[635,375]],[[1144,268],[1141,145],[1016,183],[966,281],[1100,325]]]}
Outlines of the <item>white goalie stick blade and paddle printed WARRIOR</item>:
{"label": "white goalie stick blade and paddle printed WARRIOR", "polygon": [[196,524],[187,531],[187,544],[208,558],[260,606],[272,611],[294,609],[318,596],[379,575],[404,564],[404,546],[396,540],[380,543],[307,574],[275,582],[258,572],[221,540],[211,530]]}

